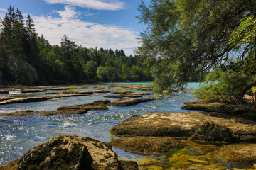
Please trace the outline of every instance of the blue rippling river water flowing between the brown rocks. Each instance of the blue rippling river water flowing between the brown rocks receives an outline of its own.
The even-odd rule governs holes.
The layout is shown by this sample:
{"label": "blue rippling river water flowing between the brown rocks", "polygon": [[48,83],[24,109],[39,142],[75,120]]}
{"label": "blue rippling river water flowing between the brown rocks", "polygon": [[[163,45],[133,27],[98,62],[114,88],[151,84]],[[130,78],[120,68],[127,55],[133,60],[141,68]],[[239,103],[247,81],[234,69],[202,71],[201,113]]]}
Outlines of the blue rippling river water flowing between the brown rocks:
{"label": "blue rippling river water flowing between the brown rocks", "polygon": [[[142,84],[142,83],[140,83]],[[189,87],[192,84],[189,84]],[[104,85],[101,85],[104,87]],[[196,84],[193,84],[196,86]],[[0,89],[1,90],[1,89]],[[115,89],[112,89],[115,90]],[[58,115],[50,117],[28,116],[23,118],[3,118],[1,113],[13,111],[33,110],[33,111],[55,111],[60,106],[74,106],[75,104],[92,103],[93,101],[104,99],[108,94],[93,94],[91,96],[79,96],[69,98],[53,98],[48,101],[36,103],[15,103],[6,106],[0,106],[0,166],[19,159],[29,149],[50,140],[59,134],[74,134],[78,136],[87,136],[110,142],[112,135],[110,129],[117,123],[129,118],[132,115],[145,113],[171,113],[183,112],[181,107],[186,101],[194,101],[191,98],[190,91],[186,93],[175,94],[170,98],[159,98],[156,101],[139,103],[136,106],[109,107],[107,111],[89,111],[84,115]],[[82,89],[78,86],[75,91],[95,91],[93,87]],[[145,91],[134,91],[145,92]],[[21,95],[16,89],[12,91],[13,95]],[[44,93],[26,94],[27,96],[45,96]],[[3,94],[2,96],[6,96]],[[148,97],[148,96],[144,96]],[[107,98],[111,101],[117,99]],[[119,157],[139,159],[142,156],[130,154],[114,148]]]}

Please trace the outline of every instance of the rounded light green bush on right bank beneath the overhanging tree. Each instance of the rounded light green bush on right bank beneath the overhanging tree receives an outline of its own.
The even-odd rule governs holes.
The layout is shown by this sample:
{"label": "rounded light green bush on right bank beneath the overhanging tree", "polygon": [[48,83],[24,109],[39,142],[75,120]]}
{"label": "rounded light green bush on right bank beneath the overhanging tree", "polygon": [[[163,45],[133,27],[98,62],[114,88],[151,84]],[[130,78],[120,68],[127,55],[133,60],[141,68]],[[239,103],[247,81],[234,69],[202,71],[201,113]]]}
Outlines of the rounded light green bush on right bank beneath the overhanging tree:
{"label": "rounded light green bush on right bank beneath the overhanging tree", "polygon": [[256,84],[256,75],[221,70],[210,72],[205,83],[193,95],[206,101],[240,101],[245,92]]}

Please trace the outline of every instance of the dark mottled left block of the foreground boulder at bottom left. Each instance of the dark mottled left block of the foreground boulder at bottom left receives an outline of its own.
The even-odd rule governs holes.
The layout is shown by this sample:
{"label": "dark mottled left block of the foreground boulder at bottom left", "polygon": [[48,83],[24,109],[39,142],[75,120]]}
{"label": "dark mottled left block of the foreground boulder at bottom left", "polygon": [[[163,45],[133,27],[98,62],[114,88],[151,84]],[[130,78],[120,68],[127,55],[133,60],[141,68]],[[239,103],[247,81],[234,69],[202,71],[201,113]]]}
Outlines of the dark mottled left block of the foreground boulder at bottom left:
{"label": "dark mottled left block of the foreground boulder at bottom left", "polygon": [[82,137],[58,135],[24,154],[18,162],[17,170],[91,169],[92,161]]}

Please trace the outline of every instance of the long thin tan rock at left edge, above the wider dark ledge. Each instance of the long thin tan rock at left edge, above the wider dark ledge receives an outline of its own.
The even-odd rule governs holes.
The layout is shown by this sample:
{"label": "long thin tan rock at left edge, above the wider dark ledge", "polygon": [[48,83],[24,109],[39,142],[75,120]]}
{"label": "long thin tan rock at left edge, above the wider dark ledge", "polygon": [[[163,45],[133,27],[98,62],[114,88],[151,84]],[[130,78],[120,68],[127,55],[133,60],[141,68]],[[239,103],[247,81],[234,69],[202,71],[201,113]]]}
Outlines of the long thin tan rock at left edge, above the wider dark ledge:
{"label": "long thin tan rock at left edge, above the wider dark ledge", "polygon": [[27,102],[38,102],[38,101],[46,101],[50,99],[50,97],[27,97],[27,98],[11,98],[9,100],[4,100],[0,102],[0,105],[11,104],[11,103],[27,103]]}

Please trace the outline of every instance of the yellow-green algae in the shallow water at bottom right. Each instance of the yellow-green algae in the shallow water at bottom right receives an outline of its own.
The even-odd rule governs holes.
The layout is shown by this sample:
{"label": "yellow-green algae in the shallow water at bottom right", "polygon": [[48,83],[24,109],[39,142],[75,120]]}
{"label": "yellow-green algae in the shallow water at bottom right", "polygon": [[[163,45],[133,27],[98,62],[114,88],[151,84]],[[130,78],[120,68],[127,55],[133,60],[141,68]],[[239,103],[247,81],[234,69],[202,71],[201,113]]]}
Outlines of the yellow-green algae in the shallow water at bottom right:
{"label": "yellow-green algae in the shallow water at bottom right", "polygon": [[218,157],[222,145],[198,144],[189,140],[183,140],[188,146],[177,149],[175,152],[160,155],[146,156],[137,159],[139,169],[254,169],[252,165],[226,164]]}

